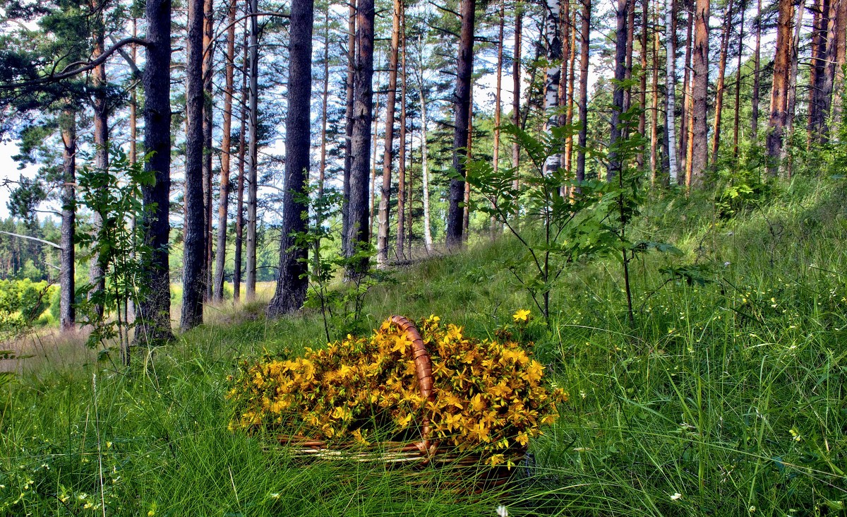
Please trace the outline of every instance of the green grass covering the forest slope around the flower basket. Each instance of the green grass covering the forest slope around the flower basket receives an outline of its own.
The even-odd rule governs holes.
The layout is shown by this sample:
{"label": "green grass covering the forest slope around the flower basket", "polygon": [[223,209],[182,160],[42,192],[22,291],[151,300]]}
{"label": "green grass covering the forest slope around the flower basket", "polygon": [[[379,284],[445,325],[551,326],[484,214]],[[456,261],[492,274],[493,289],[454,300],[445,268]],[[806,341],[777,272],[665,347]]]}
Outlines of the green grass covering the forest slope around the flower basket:
{"label": "green grass covering the forest slope around the flower basket", "polygon": [[[240,359],[324,340],[316,312],[265,320],[253,305],[210,309],[208,325],[130,370],[48,363],[5,386],[0,515],[102,515],[103,501],[108,515],[844,514],[844,199],[843,182],[800,178],[729,221],[713,219],[706,194],[651,199],[636,238],[684,256],[634,263],[634,325],[616,263],[571,266],[551,327],[527,330],[571,402],[508,494],[304,467],[228,431],[226,377]],[[503,238],[397,270],[368,294],[368,327],[439,314],[489,335],[531,309],[497,264],[510,253],[520,247]],[[665,283],[660,270],[682,264],[706,283]]]}

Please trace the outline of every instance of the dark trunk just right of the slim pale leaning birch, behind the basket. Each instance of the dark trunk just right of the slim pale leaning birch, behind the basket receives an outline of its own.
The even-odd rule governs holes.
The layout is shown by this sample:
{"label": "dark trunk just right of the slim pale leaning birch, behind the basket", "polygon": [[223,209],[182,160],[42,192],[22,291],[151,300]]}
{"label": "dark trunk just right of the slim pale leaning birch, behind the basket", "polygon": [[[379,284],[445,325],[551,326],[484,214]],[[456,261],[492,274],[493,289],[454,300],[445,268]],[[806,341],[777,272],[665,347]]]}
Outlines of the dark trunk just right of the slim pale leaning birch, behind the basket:
{"label": "dark trunk just right of the slim pale leaning birch, behind the basket", "polygon": [[[473,18],[476,10],[475,0],[462,0],[462,32],[459,38],[458,62],[456,74],[456,94],[453,102],[455,117],[453,130],[453,169],[462,178],[465,177],[464,158],[468,153],[468,114],[470,113],[471,75],[473,73]],[[447,247],[462,244],[462,201],[465,181],[450,181],[450,205],[447,212]]]}

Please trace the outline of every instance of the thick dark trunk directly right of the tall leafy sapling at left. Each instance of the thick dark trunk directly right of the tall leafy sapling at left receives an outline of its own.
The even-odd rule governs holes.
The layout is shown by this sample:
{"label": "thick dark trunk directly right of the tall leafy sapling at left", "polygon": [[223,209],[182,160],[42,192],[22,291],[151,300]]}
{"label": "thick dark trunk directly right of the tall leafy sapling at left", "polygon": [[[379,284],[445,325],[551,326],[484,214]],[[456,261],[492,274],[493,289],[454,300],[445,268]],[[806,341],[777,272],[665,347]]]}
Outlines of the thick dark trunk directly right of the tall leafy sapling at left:
{"label": "thick dark trunk directly right of the tall leafy sapling at left", "polygon": [[152,153],[144,170],[155,176],[152,186],[141,186],[144,214],[141,232],[152,250],[136,321],[136,344],[168,342],[170,328],[170,13],[168,0],[147,0],[146,58],[144,66],[144,149]]}

